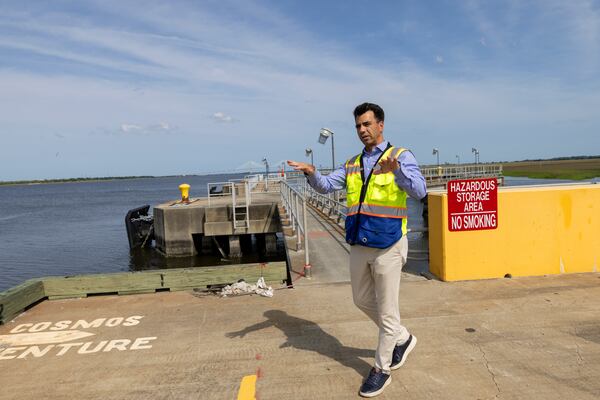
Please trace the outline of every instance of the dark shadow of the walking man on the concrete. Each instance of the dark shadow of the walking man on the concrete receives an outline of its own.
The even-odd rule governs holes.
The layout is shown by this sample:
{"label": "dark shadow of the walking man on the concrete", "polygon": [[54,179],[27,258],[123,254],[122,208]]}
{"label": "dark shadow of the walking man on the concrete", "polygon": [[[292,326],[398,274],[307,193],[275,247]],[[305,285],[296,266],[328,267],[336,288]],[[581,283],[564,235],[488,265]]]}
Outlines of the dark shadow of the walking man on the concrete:
{"label": "dark shadow of the walking man on the concrete", "polygon": [[366,375],[371,365],[360,357],[373,357],[373,350],[344,346],[337,338],[325,332],[316,323],[289,315],[285,311],[268,310],[263,314],[266,321],[248,326],[240,331],[229,332],[229,338],[244,337],[246,334],[274,326],[287,337],[280,348],[294,347],[299,350],[314,351],[329,357],[340,364],[353,368],[359,375]]}

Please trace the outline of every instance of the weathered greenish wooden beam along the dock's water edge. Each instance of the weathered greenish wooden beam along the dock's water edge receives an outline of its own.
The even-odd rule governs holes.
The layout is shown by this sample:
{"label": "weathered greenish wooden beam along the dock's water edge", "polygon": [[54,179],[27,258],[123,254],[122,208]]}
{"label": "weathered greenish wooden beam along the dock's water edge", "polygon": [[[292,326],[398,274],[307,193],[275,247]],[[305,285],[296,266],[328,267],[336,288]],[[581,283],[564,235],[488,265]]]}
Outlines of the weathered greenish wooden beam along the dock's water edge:
{"label": "weathered greenish wooden beam along the dock's water edge", "polygon": [[240,279],[256,283],[261,276],[275,287],[291,284],[286,261],[30,279],[0,292],[0,325],[45,299],[190,290]]}

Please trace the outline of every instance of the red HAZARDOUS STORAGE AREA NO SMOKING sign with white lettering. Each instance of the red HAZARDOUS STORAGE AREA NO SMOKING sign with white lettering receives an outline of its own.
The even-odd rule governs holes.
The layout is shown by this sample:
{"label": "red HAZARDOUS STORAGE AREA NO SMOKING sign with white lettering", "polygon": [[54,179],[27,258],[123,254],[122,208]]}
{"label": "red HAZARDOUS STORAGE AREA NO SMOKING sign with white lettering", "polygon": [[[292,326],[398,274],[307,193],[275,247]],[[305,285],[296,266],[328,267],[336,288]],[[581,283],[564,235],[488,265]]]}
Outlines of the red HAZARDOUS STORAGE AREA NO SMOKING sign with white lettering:
{"label": "red HAZARDOUS STORAGE AREA NO SMOKING sign with white lettering", "polygon": [[498,227],[496,178],[448,182],[448,228],[474,231]]}

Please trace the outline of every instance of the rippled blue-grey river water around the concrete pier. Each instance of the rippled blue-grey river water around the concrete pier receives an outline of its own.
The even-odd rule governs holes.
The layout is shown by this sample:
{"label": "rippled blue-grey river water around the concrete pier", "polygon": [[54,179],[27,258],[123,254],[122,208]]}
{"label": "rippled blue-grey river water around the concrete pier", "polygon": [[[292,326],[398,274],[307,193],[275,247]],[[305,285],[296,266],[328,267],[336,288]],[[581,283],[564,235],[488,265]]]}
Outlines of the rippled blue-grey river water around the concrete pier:
{"label": "rippled blue-grey river water around the concrete pier", "polygon": [[[128,210],[179,197],[206,196],[206,184],[241,175],[186,176],[44,185],[0,186],[0,291],[41,276],[139,271],[223,264],[220,257],[165,258],[155,251],[130,252]],[[507,186],[561,183],[552,179],[505,178]],[[423,226],[421,204],[409,199],[410,228]],[[280,241],[281,258],[283,245]],[[244,256],[234,262],[256,262]]]}

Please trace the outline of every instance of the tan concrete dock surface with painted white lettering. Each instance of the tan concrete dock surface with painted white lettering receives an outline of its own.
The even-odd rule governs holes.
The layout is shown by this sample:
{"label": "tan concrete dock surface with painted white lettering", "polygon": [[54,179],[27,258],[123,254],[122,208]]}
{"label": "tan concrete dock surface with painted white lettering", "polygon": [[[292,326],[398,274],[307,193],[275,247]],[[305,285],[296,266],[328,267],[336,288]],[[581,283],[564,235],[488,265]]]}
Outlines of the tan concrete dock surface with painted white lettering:
{"label": "tan concrete dock surface with painted white lettering", "polygon": [[[600,397],[599,274],[406,280],[400,302],[418,344],[379,398]],[[348,282],[44,301],[0,327],[0,398],[358,398],[376,341]]]}

